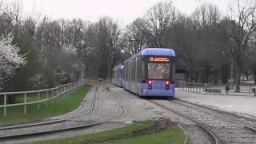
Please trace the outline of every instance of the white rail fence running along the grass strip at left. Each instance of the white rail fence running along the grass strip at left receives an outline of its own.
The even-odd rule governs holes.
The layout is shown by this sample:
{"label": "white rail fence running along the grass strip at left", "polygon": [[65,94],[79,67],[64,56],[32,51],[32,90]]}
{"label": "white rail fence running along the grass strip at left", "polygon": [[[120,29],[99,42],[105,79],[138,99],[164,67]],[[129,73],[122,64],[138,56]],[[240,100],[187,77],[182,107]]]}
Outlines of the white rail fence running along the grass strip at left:
{"label": "white rail fence running along the grass strip at left", "polygon": [[[6,108],[10,106],[24,106],[23,111],[26,114],[26,108],[28,105],[37,104],[37,109],[40,109],[40,103],[46,102],[46,107],[49,103],[58,102],[63,96],[70,93],[73,90],[84,86],[86,80],[79,82],[68,83],[66,85],[57,86],[46,90],[31,90],[31,91],[19,91],[19,92],[5,92],[0,93],[0,98],[3,99],[3,103],[0,104],[0,108],[3,108],[3,117],[6,118]],[[15,99],[14,103],[8,103],[8,98]]]}

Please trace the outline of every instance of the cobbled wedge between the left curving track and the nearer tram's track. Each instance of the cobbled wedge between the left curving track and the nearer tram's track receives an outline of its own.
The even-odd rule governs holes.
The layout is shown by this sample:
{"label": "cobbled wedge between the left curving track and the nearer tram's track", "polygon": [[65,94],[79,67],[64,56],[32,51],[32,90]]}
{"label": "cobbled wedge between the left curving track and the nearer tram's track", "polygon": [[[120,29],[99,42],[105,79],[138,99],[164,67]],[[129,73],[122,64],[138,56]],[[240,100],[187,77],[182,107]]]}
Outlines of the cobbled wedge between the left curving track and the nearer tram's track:
{"label": "cobbled wedge between the left curving track and the nearer tram's track", "polygon": [[187,121],[185,118],[181,118],[177,114],[170,114],[168,110],[156,106],[154,103],[148,102],[144,98],[138,98],[138,96],[130,94],[130,92],[123,90],[122,88],[112,86],[110,87],[110,92],[118,98],[118,101],[121,102],[127,110],[126,116],[119,118],[118,122],[170,118],[170,120],[174,122],[194,124],[194,122]]}

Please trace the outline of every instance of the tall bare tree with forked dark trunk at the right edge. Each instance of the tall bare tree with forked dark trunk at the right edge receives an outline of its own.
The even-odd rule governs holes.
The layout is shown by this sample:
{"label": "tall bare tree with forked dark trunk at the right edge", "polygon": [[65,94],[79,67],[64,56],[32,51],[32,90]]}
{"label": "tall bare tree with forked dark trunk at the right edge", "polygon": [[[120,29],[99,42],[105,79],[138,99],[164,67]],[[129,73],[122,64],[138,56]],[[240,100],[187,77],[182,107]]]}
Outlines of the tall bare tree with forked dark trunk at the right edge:
{"label": "tall bare tree with forked dark trunk at the right edge", "polygon": [[221,23],[226,49],[235,64],[235,90],[239,91],[240,75],[249,50],[248,42],[256,30],[255,3],[253,0],[236,1],[230,14]]}

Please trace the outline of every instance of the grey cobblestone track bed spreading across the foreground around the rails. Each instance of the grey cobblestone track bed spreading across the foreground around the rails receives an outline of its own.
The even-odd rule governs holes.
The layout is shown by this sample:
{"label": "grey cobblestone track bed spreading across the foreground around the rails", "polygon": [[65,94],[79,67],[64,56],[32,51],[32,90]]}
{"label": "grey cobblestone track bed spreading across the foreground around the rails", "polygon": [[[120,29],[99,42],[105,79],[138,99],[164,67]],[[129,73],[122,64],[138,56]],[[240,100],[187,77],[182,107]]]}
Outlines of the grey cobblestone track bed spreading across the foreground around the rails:
{"label": "grey cobblestone track bed spreading across the foreground around the rails", "polygon": [[[68,114],[63,114],[58,117],[48,118],[49,120],[58,120],[58,119],[69,119],[78,114],[83,114],[85,111],[90,110],[91,103],[94,98],[94,90],[90,90],[87,94],[85,100],[82,102],[81,106],[77,110],[70,112]],[[122,116],[124,110],[122,106],[117,102],[122,103],[122,106],[126,108],[126,114]],[[171,109],[178,110],[180,113],[190,114],[191,116],[201,119],[201,122],[205,122],[210,130],[213,130],[214,133],[218,136],[222,135],[223,143],[234,143],[234,142],[256,142],[255,133],[244,127],[235,125],[231,122],[226,122],[215,118],[213,115],[204,114],[201,110],[191,110],[186,106],[181,106],[180,104],[175,104],[169,100],[154,100],[164,103],[165,106],[170,107]],[[170,104],[171,103],[171,104]],[[174,103],[174,104],[173,104]],[[122,117],[121,117],[122,116]],[[155,105],[152,102],[149,102],[147,99],[138,98],[135,94],[130,94],[130,92],[123,90],[122,88],[113,86],[111,84],[106,84],[105,86],[98,86],[98,90],[95,97],[94,109],[90,113],[84,114],[79,118],[73,118],[65,122],[50,124],[46,126],[33,126],[30,128],[14,129],[13,131],[1,131],[0,135],[3,134],[20,134],[24,133],[33,133],[34,131],[39,130],[54,130],[58,128],[72,127],[72,126],[82,126],[85,124],[90,124],[92,122],[107,122],[100,124],[98,126],[91,126],[81,130],[69,130],[63,131],[56,134],[43,134],[40,136],[35,136],[33,138],[24,138],[22,140],[13,140],[6,141],[6,143],[27,143],[33,142],[34,140],[46,140],[54,138],[66,138],[74,137],[76,135],[94,133],[104,130],[112,130],[114,128],[127,126],[126,122],[134,121],[145,121],[148,119],[159,119],[159,118],[169,118],[171,121],[178,122],[182,125],[184,130],[189,136],[189,143],[211,143],[213,140],[200,126],[197,126],[194,122],[190,121],[187,118],[170,112],[160,106]],[[228,130],[229,129],[229,130]],[[240,134],[241,137],[237,137]],[[238,141],[238,138],[240,138]],[[246,140],[247,139],[247,140]],[[246,141],[244,141],[246,140]],[[253,141],[254,140],[254,141]]]}

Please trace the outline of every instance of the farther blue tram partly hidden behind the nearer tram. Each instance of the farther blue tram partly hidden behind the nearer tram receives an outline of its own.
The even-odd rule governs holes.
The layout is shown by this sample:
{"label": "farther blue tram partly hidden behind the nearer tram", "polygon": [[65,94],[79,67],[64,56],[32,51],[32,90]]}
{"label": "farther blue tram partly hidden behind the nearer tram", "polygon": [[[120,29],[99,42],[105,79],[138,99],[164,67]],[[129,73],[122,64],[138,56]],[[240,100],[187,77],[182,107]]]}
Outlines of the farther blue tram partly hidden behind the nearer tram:
{"label": "farther blue tram partly hidden behind the nearer tram", "polygon": [[112,71],[112,83],[116,86],[122,87],[123,83],[123,66],[114,66]]}

